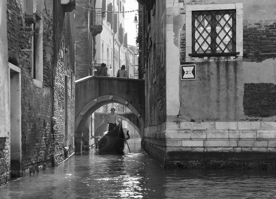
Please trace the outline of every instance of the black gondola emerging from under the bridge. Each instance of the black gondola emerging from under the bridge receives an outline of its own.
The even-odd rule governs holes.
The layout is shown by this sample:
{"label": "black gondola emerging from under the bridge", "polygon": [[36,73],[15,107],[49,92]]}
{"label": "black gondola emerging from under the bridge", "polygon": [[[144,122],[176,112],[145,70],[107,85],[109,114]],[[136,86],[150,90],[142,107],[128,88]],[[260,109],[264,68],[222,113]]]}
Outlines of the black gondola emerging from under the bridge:
{"label": "black gondola emerging from under the bridge", "polygon": [[104,134],[97,142],[99,153],[120,153],[125,148],[125,135],[122,122],[117,127]]}

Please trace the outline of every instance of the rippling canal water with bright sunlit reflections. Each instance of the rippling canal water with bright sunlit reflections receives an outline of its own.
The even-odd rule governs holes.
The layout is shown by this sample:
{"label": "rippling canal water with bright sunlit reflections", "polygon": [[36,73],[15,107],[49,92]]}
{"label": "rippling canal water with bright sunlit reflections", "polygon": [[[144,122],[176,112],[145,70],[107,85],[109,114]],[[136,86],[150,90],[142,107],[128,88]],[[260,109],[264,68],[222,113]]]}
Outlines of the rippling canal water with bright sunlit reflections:
{"label": "rippling canal water with bright sunlit reflections", "polygon": [[97,150],[76,154],[59,166],[13,179],[0,199],[276,198],[276,170],[164,170],[139,138],[121,155]]}

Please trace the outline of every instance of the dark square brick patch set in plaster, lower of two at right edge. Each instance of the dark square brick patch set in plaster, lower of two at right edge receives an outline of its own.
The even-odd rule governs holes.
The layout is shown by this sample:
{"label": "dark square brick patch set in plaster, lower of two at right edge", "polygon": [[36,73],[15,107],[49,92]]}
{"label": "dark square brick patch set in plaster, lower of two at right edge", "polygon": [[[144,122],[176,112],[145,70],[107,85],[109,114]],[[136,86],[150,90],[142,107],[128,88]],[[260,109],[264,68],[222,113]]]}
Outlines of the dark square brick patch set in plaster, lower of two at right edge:
{"label": "dark square brick patch set in plaster, lower of two at right edge", "polygon": [[276,115],[276,85],[273,83],[244,84],[243,111],[250,117]]}

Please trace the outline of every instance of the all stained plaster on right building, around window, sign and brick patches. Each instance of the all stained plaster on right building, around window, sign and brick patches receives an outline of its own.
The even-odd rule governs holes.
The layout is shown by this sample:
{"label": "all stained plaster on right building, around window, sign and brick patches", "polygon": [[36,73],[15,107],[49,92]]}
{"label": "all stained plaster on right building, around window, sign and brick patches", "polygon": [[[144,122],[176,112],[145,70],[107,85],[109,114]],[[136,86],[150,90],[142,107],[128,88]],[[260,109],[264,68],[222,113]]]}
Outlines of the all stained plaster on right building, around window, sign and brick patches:
{"label": "all stained plaster on right building, around window, sign and brick patches", "polygon": [[[217,0],[215,3],[235,1]],[[179,65],[184,63],[180,56],[181,31],[185,26],[185,6],[213,4],[211,1],[167,1],[167,118],[168,121],[236,121],[250,120],[243,113],[243,85],[245,83],[275,84],[275,63],[273,55],[262,62],[240,62],[235,58],[204,58],[192,61],[197,65],[197,79],[179,81]],[[275,3],[271,1],[243,0],[243,22],[258,23],[262,20],[275,21],[270,14]],[[259,14],[254,15],[259,10]],[[260,12],[268,14],[260,14]],[[238,20],[238,19],[237,19]],[[237,30],[238,32],[238,30]],[[184,32],[185,33],[185,32]],[[182,32],[183,34],[183,32]],[[244,34],[243,34],[244,36]],[[187,42],[187,41],[186,41]],[[274,41],[271,40],[271,45]],[[274,46],[273,46],[274,47]],[[190,60],[189,60],[190,61]],[[181,118],[175,119],[180,113]],[[171,118],[171,119],[170,119]],[[275,117],[259,118],[274,121]]]}

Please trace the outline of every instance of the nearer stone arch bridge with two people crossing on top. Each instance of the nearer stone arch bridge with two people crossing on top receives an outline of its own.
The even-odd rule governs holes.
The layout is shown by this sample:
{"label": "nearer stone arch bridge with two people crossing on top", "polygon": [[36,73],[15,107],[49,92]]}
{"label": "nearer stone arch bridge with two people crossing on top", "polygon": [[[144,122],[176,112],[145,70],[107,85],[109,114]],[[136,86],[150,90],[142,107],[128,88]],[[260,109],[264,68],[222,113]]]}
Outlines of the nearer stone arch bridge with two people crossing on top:
{"label": "nearer stone arch bridge with two people crossing on top", "polygon": [[[144,128],[144,80],[88,76],[75,82],[75,147],[80,146],[81,130],[89,116],[106,103],[127,106],[139,120],[140,135]],[[135,125],[134,125],[135,126]]]}

